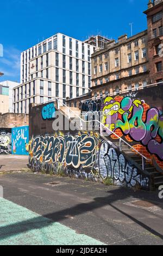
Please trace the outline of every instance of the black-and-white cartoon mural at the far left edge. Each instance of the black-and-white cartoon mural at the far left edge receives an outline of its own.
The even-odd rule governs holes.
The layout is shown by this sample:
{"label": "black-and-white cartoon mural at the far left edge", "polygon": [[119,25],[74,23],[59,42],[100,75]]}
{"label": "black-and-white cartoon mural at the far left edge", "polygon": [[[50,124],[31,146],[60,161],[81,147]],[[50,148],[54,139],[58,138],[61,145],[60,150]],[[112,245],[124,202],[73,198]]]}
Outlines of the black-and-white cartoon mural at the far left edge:
{"label": "black-and-white cartoon mural at the far left edge", "polygon": [[11,154],[11,129],[0,128],[0,154]]}

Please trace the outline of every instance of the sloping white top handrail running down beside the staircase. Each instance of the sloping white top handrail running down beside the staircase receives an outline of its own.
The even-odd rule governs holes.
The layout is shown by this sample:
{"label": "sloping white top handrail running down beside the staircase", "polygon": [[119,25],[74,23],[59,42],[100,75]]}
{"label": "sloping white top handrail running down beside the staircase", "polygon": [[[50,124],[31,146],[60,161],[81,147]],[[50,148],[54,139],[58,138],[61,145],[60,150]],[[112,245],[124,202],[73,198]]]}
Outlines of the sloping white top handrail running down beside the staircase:
{"label": "sloping white top handrail running down beside the staircase", "polygon": [[[59,99],[57,99],[58,102],[61,102],[62,105],[64,105],[66,108],[68,108],[68,111],[71,111],[73,114],[77,115],[77,113],[74,113],[72,111],[72,109],[70,109],[69,107],[67,107],[62,101],[60,101]],[[82,118],[80,118],[79,116],[77,116],[80,121],[83,121],[84,123],[88,123],[88,122],[92,122],[92,120],[90,121],[85,121]],[[139,151],[137,151],[135,148],[133,148],[129,143],[127,143],[126,141],[124,141],[124,139],[122,139],[120,136],[118,136],[115,132],[111,131],[108,127],[106,127],[104,124],[102,124],[99,120],[93,120],[93,122],[97,121],[101,126],[103,126],[105,129],[107,129],[108,131],[110,131],[112,134],[114,134],[118,139],[120,139],[120,143],[121,141],[124,142],[124,144],[127,144],[129,148],[133,149],[137,154],[139,154],[142,159],[145,159],[146,161],[152,161],[151,159],[148,159],[146,156],[142,155]],[[142,162],[142,167],[143,167],[143,162]]]}

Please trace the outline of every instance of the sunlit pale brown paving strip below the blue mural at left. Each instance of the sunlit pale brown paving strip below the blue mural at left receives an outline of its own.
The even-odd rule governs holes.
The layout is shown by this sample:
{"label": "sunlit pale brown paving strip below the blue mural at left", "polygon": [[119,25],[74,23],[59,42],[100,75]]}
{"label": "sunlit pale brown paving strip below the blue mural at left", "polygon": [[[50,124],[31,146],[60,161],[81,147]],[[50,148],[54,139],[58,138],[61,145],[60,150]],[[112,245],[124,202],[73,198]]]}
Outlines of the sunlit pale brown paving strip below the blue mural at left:
{"label": "sunlit pale brown paving strip below the blue mural at left", "polygon": [[28,156],[0,155],[0,172],[26,169]]}

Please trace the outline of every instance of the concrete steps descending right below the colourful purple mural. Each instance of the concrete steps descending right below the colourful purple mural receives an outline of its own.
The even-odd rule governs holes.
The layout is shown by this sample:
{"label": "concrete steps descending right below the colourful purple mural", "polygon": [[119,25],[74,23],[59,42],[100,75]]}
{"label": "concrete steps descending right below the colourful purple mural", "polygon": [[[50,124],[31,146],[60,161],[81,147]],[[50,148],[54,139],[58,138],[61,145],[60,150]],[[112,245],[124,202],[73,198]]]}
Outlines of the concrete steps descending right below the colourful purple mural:
{"label": "concrete steps descending right below the colourful purple mural", "polygon": [[[120,148],[120,142],[116,140],[111,140],[111,142],[116,145],[117,148]],[[140,168],[142,169],[142,157],[138,154],[136,154],[135,151],[132,151],[131,148],[128,147],[124,142],[121,142],[121,151],[124,153],[127,157],[129,157],[131,160],[136,162]],[[163,185],[163,173],[158,172],[154,166],[152,166],[151,163],[147,162],[145,163],[145,170],[150,175],[153,176],[154,186],[159,187],[160,185]]]}

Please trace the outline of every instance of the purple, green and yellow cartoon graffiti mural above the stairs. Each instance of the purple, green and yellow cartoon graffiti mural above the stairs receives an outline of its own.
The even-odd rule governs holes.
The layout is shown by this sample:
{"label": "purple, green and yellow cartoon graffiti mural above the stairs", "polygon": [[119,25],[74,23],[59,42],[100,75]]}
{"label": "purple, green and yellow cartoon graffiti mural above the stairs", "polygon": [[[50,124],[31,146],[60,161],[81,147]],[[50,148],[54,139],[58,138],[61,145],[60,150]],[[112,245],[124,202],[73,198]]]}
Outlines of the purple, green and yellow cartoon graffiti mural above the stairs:
{"label": "purple, green and yellow cartoon graffiti mural above the stairs", "polygon": [[103,112],[103,124],[108,127],[106,132],[110,136],[112,131],[120,129],[124,136],[140,142],[150,154],[156,155],[163,161],[163,114],[158,108],[149,108],[146,112],[143,101],[126,96],[118,101],[112,97],[106,97],[101,106]]}

